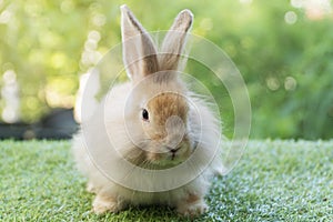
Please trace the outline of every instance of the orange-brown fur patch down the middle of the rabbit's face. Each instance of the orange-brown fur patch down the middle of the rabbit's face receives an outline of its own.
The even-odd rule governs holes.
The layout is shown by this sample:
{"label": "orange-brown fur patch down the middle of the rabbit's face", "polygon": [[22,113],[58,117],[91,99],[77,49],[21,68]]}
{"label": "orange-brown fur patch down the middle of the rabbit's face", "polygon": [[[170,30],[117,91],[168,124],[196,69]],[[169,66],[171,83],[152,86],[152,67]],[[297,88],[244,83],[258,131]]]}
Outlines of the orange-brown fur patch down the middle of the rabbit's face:
{"label": "orange-brown fur patch down the middle of the rabbit's face", "polygon": [[[189,112],[186,98],[176,92],[162,92],[151,98],[145,109],[149,120],[143,122],[143,129],[151,141],[145,152],[147,160],[153,164],[161,161],[179,163],[189,157],[191,152],[184,131]],[[173,147],[179,149],[175,154],[170,151]]]}

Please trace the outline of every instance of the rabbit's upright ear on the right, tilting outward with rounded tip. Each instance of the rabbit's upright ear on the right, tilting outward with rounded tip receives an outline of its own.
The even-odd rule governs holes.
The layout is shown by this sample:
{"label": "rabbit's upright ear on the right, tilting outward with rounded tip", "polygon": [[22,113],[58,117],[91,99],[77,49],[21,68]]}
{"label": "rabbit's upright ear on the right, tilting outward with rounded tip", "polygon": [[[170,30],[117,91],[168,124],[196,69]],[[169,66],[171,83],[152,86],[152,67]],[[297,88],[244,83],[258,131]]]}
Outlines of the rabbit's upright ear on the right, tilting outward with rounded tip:
{"label": "rabbit's upright ear on the right, tilting outward with rounded tip", "polygon": [[172,27],[164,38],[159,56],[161,70],[178,70],[180,57],[184,50],[192,22],[193,14],[188,9],[181,11],[174,19]]}

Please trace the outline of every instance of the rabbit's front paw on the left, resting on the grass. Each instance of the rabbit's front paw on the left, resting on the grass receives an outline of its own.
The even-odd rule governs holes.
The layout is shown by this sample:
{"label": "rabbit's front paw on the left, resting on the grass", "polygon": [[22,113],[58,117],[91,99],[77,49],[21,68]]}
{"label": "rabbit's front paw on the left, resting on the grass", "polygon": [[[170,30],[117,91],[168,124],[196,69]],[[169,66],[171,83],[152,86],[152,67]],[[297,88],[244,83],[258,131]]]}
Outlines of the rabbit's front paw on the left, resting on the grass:
{"label": "rabbit's front paw on the left, resting on the grass", "polygon": [[92,208],[97,214],[105,212],[117,213],[123,209],[123,204],[111,196],[98,194],[92,203]]}

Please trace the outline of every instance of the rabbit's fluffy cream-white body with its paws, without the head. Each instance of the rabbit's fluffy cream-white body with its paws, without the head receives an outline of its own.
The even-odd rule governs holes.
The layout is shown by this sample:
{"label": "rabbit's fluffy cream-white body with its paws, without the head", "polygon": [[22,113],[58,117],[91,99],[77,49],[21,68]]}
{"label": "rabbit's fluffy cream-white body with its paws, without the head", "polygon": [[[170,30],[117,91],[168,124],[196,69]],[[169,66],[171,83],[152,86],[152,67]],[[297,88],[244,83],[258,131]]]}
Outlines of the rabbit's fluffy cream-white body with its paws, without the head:
{"label": "rabbit's fluffy cream-white body with its paws, without the head", "polygon": [[[188,91],[179,79],[172,80],[164,87],[153,84],[152,80],[148,80],[144,85],[138,88],[134,95],[131,93],[133,83],[113,87],[99,104],[97,112],[82,123],[81,132],[73,139],[72,149],[78,168],[89,180],[88,190],[97,193],[93,210],[103,213],[118,212],[129,204],[168,204],[176,208],[184,215],[200,214],[206,209],[203,196],[209,190],[210,178],[216,172],[222,173],[223,170],[220,160],[222,140],[220,123],[209,105]],[[123,167],[122,158],[122,154],[131,153],[130,151],[135,147],[129,138],[127,124],[130,124],[131,132],[135,132],[132,135],[135,139],[140,140],[144,133],[140,115],[133,110],[147,101],[138,100],[148,100],[164,90],[181,93],[191,101],[186,133],[192,145],[194,145],[193,141],[198,142],[198,148],[193,151],[196,154],[190,157],[184,169],[193,175],[198,171],[203,171],[193,180],[171,190],[168,188],[172,188],[176,181],[169,181],[169,178],[161,180],[160,171],[142,174],[141,168],[127,169]],[[206,165],[208,160],[211,162]],[[182,179],[184,175],[184,171],[174,171],[172,178]],[[119,184],[119,181],[123,184],[145,188],[147,191],[125,188]],[[165,190],[148,192],[154,191],[155,188],[165,188]]]}

